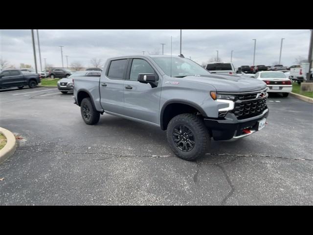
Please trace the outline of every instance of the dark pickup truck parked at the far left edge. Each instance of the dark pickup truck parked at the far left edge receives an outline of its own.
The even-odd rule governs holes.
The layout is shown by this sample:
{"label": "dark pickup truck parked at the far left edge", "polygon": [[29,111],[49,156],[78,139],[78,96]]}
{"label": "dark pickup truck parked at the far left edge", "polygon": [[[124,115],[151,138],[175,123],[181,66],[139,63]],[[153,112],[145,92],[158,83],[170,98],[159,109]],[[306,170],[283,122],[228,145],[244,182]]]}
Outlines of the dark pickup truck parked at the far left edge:
{"label": "dark pickup truck parked at the far left edge", "polygon": [[24,86],[35,88],[41,82],[39,74],[23,73],[20,70],[3,70],[0,72],[0,88]]}

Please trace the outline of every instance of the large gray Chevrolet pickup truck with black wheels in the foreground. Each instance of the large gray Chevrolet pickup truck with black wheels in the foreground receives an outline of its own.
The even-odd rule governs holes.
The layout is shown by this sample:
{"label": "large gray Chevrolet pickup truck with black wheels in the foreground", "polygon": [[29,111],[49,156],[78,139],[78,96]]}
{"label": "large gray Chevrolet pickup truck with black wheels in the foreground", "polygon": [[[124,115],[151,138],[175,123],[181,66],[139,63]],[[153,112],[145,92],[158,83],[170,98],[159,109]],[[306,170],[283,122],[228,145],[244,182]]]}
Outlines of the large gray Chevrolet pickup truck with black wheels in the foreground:
{"label": "large gray Chevrolet pickup truck with black wheels in the foreground", "polygon": [[107,113],[166,130],[174,153],[195,160],[215,141],[232,141],[266,124],[266,84],[218,75],[183,56],[108,59],[99,77],[75,77],[74,99],[93,125]]}

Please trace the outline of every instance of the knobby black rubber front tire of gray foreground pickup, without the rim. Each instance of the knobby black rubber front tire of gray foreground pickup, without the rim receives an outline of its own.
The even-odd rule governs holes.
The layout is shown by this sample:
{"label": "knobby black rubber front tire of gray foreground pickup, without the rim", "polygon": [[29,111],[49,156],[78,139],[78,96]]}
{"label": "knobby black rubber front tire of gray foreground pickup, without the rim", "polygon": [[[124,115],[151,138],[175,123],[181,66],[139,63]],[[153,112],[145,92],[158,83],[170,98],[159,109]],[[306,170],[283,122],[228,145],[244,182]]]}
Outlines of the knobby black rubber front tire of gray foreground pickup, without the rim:
{"label": "knobby black rubber front tire of gray foreground pickup, without the rim", "polygon": [[[173,132],[178,125],[183,125],[189,128],[194,136],[194,146],[188,152],[180,150],[174,142]],[[166,136],[173,152],[179,158],[187,161],[194,161],[198,157],[203,156],[209,149],[211,140],[203,119],[195,114],[180,114],[172,118],[167,126]]]}

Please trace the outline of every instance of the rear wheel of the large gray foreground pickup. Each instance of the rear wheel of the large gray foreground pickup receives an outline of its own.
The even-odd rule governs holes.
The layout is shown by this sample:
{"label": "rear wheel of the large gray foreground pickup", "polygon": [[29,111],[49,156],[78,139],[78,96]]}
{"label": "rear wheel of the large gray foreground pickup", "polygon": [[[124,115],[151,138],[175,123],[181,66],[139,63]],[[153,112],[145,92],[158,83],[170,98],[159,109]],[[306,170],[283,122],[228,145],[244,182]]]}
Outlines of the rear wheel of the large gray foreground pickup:
{"label": "rear wheel of the large gray foreground pickup", "polygon": [[80,112],[83,120],[88,125],[94,125],[98,123],[100,119],[100,112],[93,106],[90,98],[84,98],[80,105]]}

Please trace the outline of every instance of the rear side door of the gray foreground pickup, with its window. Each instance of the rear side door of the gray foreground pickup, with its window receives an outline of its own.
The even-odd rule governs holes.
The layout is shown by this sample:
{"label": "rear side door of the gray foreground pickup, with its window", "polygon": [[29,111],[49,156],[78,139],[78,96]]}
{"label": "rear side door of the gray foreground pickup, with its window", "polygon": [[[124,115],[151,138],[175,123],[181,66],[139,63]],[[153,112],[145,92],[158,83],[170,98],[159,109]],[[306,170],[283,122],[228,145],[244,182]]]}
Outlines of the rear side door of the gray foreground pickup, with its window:
{"label": "rear side door of the gray foreground pickup, with its window", "polygon": [[100,103],[107,113],[124,115],[124,81],[129,59],[109,61],[100,77]]}

